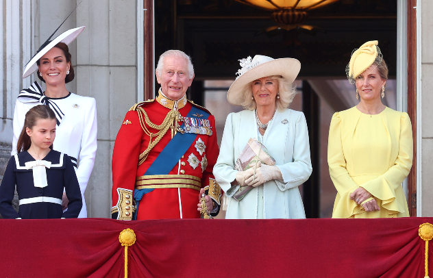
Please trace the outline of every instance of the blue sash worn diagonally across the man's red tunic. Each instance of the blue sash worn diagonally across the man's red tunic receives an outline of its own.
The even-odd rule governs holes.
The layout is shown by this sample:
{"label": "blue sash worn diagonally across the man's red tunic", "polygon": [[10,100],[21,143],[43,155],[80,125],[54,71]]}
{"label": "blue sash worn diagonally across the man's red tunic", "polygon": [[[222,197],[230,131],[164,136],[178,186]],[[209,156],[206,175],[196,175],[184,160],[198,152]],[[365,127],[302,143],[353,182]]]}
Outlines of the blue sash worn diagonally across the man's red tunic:
{"label": "blue sash worn diagonally across the man's red tunic", "polygon": [[[193,115],[203,114],[206,118],[209,118],[209,114],[206,111],[200,110],[193,106],[186,115],[191,118]],[[185,124],[182,123],[181,127],[184,129]],[[168,175],[173,167],[179,162],[182,155],[186,153],[186,151],[191,147],[195,138],[197,138],[197,134],[181,134],[177,132],[177,134],[170,140],[169,144],[166,144],[161,153],[156,157],[151,164],[151,166],[147,169],[146,173],[143,175]],[[133,220],[137,219],[138,214],[138,205],[140,200],[143,198],[144,194],[152,192],[154,188],[143,188],[134,190],[134,199],[136,201],[136,213],[134,214]]]}

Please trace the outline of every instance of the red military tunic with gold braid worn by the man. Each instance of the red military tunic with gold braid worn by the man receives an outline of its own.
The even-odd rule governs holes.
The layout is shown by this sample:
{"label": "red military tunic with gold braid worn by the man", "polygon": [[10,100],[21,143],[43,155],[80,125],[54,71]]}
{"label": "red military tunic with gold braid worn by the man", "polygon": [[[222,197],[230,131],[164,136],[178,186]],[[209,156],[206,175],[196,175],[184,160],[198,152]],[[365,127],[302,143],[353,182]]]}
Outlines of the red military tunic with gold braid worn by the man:
{"label": "red military tunic with gold braid worn by the man", "polygon": [[[186,116],[193,105],[195,104],[188,101],[183,108],[179,109],[180,114]],[[204,110],[204,108],[201,108],[198,105],[195,106],[200,110]],[[161,125],[166,114],[170,112],[169,108],[164,107],[157,101],[140,103],[138,104],[138,107],[143,108],[149,116],[151,123],[156,125]],[[183,157],[169,173],[169,175],[184,174],[199,177],[201,179],[202,188],[209,185],[210,178],[214,179],[212,169],[214,164],[217,162],[219,154],[214,116],[210,114],[208,120],[212,127],[212,135],[197,134],[195,140]],[[158,130],[152,129],[149,126],[147,126],[147,129],[152,134],[158,132]],[[200,154],[195,147],[199,138],[201,138],[206,146],[206,149],[202,154]],[[147,168],[151,166],[152,162],[156,157],[158,157],[162,149],[164,149],[170,140],[171,129],[169,129],[169,131],[167,131],[161,138],[160,142],[151,149],[145,162],[138,166],[138,156],[147,149],[149,145],[149,135],[145,134],[145,131],[143,131],[143,128],[140,125],[138,112],[134,110],[127,112],[123,124],[121,125],[121,129],[117,134],[112,156],[113,207],[118,205],[119,202],[118,189],[123,188],[134,192],[136,177],[145,174]],[[188,162],[188,156],[190,153],[193,153],[200,162],[203,161],[203,157],[206,155],[208,166],[202,170],[201,164],[199,164],[197,168],[194,169]],[[166,175],[166,173],[161,173],[161,175],[163,174]],[[141,199],[140,205],[138,206],[137,219],[181,218],[181,207],[182,218],[200,218],[200,214],[197,211],[197,203],[199,203],[198,195],[199,192],[197,190],[190,188],[156,188],[152,192],[145,194],[143,199]],[[119,216],[117,218],[119,218]]]}

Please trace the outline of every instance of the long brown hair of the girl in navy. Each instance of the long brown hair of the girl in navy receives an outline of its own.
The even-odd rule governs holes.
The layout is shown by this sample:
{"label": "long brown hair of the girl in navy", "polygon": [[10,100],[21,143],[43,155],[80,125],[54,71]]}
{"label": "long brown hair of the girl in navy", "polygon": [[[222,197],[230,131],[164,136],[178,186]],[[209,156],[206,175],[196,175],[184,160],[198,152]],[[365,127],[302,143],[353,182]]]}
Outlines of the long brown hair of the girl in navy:
{"label": "long brown hair of the girl in navy", "polygon": [[[48,105],[36,105],[31,108],[27,113],[25,113],[25,120],[23,130],[21,130],[20,137],[18,138],[18,143],[16,144],[16,151],[21,153],[21,151],[27,151],[32,145],[32,140],[30,140],[30,136],[25,131],[25,128],[28,127],[32,129],[36,125],[36,121],[38,119],[53,119],[55,120],[55,114]],[[53,149],[53,145],[49,146],[50,149]]]}

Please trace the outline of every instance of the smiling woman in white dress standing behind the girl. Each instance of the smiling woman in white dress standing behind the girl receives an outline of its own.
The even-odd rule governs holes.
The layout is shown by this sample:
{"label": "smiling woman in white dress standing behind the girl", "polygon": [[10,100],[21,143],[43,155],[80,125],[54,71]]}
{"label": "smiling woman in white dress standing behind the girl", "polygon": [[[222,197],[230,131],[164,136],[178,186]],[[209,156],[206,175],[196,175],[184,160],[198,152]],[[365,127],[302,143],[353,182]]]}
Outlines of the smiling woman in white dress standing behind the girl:
{"label": "smiling woman in white dress standing behind the girl", "polygon": [[[79,218],[87,217],[84,191],[95,164],[97,150],[96,101],[66,90],[65,84],[74,79],[71,53],[67,44],[72,42],[84,27],[65,31],[52,41],[45,42],[38,53],[25,67],[23,78],[37,71],[38,78],[45,82],[46,90],[35,81],[18,95],[14,111],[14,138],[12,155],[16,154],[16,142],[23,129],[25,113],[35,105],[49,105],[57,118],[53,149],[71,157],[82,192],[83,207]],[[66,194],[63,203],[67,204]],[[65,207],[65,206],[64,206]]]}

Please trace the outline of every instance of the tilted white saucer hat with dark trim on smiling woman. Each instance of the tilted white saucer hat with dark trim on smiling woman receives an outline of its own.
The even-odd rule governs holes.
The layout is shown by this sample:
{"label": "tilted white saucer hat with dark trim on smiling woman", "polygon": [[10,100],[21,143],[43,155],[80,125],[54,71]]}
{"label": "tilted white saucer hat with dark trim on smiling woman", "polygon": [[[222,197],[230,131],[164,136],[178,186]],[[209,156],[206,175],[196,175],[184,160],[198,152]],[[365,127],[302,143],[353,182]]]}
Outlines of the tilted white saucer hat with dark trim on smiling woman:
{"label": "tilted white saucer hat with dark trim on smiling woman", "polygon": [[64,42],[66,45],[69,45],[73,40],[75,40],[75,38],[77,38],[77,36],[84,30],[85,27],[86,26],[69,29],[68,31],[64,31],[54,40],[51,40],[51,42],[47,40],[36,52],[36,55],[34,55],[33,58],[25,65],[23,79],[31,75],[38,69],[38,65],[36,64],[36,62],[38,62],[38,60],[42,58],[42,56],[45,55],[45,53],[47,53],[50,49],[55,47],[55,45],[57,45],[59,42]]}

